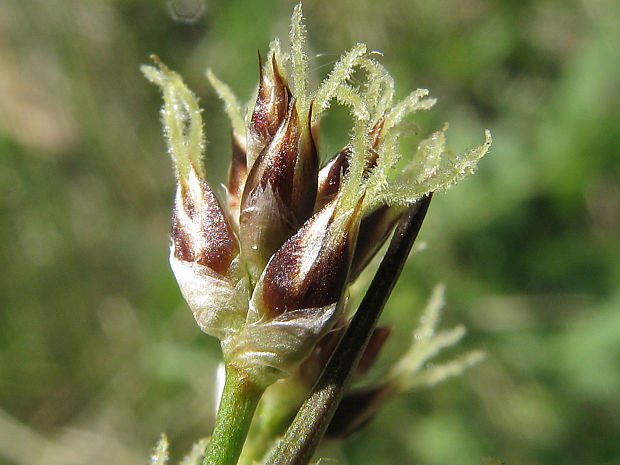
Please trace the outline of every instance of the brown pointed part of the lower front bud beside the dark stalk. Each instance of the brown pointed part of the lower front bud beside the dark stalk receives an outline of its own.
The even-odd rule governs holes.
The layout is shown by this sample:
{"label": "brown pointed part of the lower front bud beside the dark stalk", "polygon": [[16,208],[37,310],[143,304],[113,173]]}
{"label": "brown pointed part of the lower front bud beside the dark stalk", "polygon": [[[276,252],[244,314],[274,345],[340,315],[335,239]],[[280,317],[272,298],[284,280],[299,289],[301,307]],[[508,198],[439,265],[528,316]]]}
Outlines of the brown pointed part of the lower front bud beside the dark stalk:
{"label": "brown pointed part of the lower front bud beside the dark stalk", "polygon": [[357,238],[361,201],[341,212],[336,198],[278,250],[263,274],[263,303],[270,317],[338,302]]}

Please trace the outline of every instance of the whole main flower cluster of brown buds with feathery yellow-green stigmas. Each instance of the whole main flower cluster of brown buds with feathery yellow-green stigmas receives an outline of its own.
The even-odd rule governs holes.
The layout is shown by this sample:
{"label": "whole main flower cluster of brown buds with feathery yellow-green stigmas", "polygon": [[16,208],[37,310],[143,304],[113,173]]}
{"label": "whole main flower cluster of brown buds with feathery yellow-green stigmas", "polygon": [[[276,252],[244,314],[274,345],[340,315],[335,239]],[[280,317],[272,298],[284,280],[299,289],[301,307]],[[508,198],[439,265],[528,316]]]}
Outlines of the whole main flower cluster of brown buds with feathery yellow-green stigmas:
{"label": "whole main flower cluster of brown buds with feathery yellow-green stigmas", "polygon": [[[311,92],[304,47],[298,6],[290,51],[274,41],[267,60],[259,58],[258,92],[246,114],[208,71],[233,126],[221,200],[205,181],[197,98],[156,57],[157,67],[143,67],[163,92],[177,178],[172,270],[200,328],[220,339],[225,362],[262,387],[290,375],[332,330],[348,285],[404,206],[471,173],[490,145],[487,133],[483,145],[448,154],[444,128],[397,170],[404,118],[435,100],[418,89],[394,102],[392,77],[363,44]],[[350,140],[319,168],[319,121],[334,100],[351,109]]]}

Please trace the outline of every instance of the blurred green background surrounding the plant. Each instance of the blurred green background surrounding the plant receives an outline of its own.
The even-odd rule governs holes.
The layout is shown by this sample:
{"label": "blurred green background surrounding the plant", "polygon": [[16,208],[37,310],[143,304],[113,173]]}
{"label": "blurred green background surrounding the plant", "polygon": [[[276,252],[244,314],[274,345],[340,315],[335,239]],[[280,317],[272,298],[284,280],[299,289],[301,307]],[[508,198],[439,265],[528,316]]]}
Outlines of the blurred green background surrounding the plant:
{"label": "blurred green background surrounding the plant", "polygon": [[[173,458],[213,422],[214,340],[167,264],[174,189],[151,53],[205,108],[209,177],[228,121],[207,66],[249,97],[256,50],[286,40],[291,1],[0,1],[0,463]],[[182,10],[182,11],[181,11]],[[432,287],[444,325],[488,359],[390,403],[326,453],[344,464],[620,464],[620,3],[317,0],[304,5],[317,80],[358,41],[397,92],[427,87],[457,151],[494,144],[433,200],[386,309],[383,365]],[[191,15],[191,13],[190,13]],[[338,113],[336,113],[337,115]],[[331,124],[330,124],[331,121]],[[328,127],[329,126],[329,127]],[[321,147],[346,138],[325,120]],[[410,142],[412,144],[412,142]],[[406,146],[406,145],[405,145]]]}

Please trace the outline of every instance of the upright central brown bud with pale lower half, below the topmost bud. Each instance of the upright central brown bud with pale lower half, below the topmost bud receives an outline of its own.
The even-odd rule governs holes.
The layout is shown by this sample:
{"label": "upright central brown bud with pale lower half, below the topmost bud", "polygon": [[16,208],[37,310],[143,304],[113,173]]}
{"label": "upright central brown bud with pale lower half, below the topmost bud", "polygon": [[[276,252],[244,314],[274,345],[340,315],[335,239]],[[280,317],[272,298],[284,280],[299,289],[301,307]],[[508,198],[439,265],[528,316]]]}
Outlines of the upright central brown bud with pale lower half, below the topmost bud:
{"label": "upright central brown bud with pale lower half, below the topmost bud", "polygon": [[312,213],[318,157],[295,102],[248,174],[239,216],[243,254],[253,279]]}

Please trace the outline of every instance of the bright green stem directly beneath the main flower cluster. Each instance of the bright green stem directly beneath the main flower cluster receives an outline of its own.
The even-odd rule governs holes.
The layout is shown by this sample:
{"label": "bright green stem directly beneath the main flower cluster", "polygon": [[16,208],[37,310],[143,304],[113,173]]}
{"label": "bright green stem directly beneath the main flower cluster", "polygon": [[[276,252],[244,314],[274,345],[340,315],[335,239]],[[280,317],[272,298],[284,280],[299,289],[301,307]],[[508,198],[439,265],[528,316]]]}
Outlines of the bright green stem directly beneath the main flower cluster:
{"label": "bright green stem directly beneath the main flower cluster", "polygon": [[264,389],[240,370],[226,365],[226,382],[203,465],[235,465]]}

